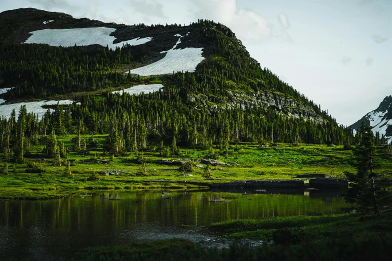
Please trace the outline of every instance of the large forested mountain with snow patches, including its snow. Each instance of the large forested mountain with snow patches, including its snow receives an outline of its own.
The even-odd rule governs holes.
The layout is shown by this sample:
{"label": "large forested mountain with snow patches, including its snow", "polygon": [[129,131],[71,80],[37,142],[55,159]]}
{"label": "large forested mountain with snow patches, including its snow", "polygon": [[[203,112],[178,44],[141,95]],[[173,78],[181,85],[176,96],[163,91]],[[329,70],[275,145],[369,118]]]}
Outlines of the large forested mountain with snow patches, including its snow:
{"label": "large forested mountain with snow patches, including its snow", "polygon": [[[130,124],[145,132],[138,136],[143,146],[147,138],[192,144],[353,138],[261,68],[230,28],[209,20],[125,25],[34,8],[5,11],[0,80],[0,117],[15,117],[26,104],[36,120],[55,121],[50,108],[60,115],[48,129],[59,133],[110,133],[117,126],[130,135]],[[68,106],[64,118],[60,111]]]}

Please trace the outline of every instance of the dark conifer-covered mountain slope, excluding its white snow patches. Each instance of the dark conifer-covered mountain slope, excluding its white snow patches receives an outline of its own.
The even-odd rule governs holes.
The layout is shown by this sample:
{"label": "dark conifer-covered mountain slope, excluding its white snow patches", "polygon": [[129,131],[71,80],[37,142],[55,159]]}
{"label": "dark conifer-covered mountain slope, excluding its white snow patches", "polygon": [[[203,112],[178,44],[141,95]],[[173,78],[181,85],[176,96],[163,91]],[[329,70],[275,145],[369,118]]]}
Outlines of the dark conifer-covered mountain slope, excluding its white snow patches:
{"label": "dark conifer-covered mountain slope, excluding its white snow patches", "polygon": [[[26,19],[20,19],[21,15]],[[106,133],[110,144],[104,149],[116,155],[148,149],[161,140],[187,147],[240,141],[352,143],[351,131],[269,69],[261,68],[235,34],[220,23],[199,20],[188,26],[128,26],[32,8],[6,11],[0,17],[0,76],[4,81],[0,87],[13,87],[0,98],[15,102],[68,95],[81,102],[58,105],[42,119],[23,107],[19,116],[16,111],[3,118],[0,146],[8,154],[21,157],[30,143],[45,143],[41,137],[50,133]],[[42,22],[49,19],[54,21]],[[26,39],[26,32],[45,26],[111,26],[117,29],[115,42],[135,37],[153,40],[114,50],[100,45],[65,48],[18,42]],[[203,47],[206,59],[195,72],[144,77],[124,73],[162,57],[159,52],[177,40],[173,35],[184,32],[189,32],[189,38],[184,37],[177,48]],[[148,83],[162,83],[164,88],[138,96],[112,93]]]}

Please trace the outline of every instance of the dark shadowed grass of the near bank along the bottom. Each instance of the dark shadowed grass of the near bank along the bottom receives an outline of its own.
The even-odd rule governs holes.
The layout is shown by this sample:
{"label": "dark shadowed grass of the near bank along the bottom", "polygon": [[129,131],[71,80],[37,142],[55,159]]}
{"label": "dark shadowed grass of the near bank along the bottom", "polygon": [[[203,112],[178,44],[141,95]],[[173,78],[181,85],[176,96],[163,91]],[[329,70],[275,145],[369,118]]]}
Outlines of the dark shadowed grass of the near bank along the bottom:
{"label": "dark shadowed grass of the near bank along the bottom", "polygon": [[[224,230],[260,231],[262,247],[233,244],[229,249],[201,249],[184,239],[97,246],[76,253],[73,260],[390,260],[392,212],[377,217],[355,214],[271,217],[216,223]],[[250,229],[250,230],[249,230]],[[252,230],[257,229],[257,230]],[[249,233],[247,234],[249,235]],[[249,236],[248,236],[249,237]],[[253,238],[250,236],[250,238]]]}

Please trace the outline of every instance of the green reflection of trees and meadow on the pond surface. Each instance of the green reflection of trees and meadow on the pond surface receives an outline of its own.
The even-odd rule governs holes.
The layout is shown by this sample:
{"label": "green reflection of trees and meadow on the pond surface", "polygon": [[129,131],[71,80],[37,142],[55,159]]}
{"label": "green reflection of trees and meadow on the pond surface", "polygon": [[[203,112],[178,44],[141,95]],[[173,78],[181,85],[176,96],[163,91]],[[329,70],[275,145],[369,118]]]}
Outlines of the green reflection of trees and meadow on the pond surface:
{"label": "green reflection of trees and meadow on the pond surface", "polygon": [[[249,193],[249,192],[248,192]],[[212,203],[211,199],[236,196],[230,202]],[[110,200],[121,199],[121,200]],[[315,190],[298,194],[263,192],[244,196],[235,192],[106,192],[92,196],[73,196],[52,200],[2,201],[4,226],[40,225],[56,229],[106,229],[120,231],[140,223],[161,226],[198,224],[231,218],[302,215],[340,212],[346,206],[340,192]]]}

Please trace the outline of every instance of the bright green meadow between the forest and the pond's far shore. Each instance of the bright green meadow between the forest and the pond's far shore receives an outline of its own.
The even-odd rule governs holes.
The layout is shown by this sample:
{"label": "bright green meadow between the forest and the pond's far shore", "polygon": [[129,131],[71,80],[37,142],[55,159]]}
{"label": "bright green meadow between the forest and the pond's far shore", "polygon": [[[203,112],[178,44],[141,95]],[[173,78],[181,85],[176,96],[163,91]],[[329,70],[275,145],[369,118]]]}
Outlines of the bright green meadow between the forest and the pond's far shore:
{"label": "bright green meadow between the forest and the pond's far shore", "polygon": [[[226,155],[225,148],[214,145],[210,149],[180,148],[180,154],[170,158],[201,159],[215,151],[216,159],[227,163],[226,166],[211,167],[213,180],[203,178],[203,168],[195,166],[191,175],[181,172],[178,166],[157,164],[163,158],[156,151],[130,152],[111,160],[110,155],[102,151],[106,135],[94,135],[98,141],[96,148],[90,148],[89,155],[73,152],[71,139],[75,135],[58,136],[68,149],[67,159],[75,160],[71,164],[73,176],[68,176],[66,162],[55,166],[53,159],[40,160],[46,155],[42,153],[43,145],[31,145],[25,155],[25,162],[8,162],[9,175],[0,175],[0,198],[53,198],[61,197],[79,190],[96,189],[193,189],[207,188],[210,182],[228,182],[251,179],[292,179],[298,174],[320,173],[336,177],[345,177],[345,172],[355,172],[352,151],[338,146],[306,145],[293,146],[278,143],[276,146],[261,147],[258,143],[231,144]],[[91,135],[82,135],[89,143]],[[138,175],[140,163],[137,157],[143,153],[147,157],[148,175]],[[0,154],[0,157],[2,154]],[[82,159],[110,160],[108,164],[82,163]],[[392,177],[392,160],[382,147],[377,148],[377,171],[385,177]],[[29,161],[37,162],[42,173],[27,173]],[[5,160],[2,160],[4,164]],[[196,163],[200,164],[200,163]],[[14,167],[15,166],[15,167]],[[115,170],[120,174],[100,175],[99,180],[91,180],[95,171]],[[188,183],[164,183],[159,180],[192,181]]]}

